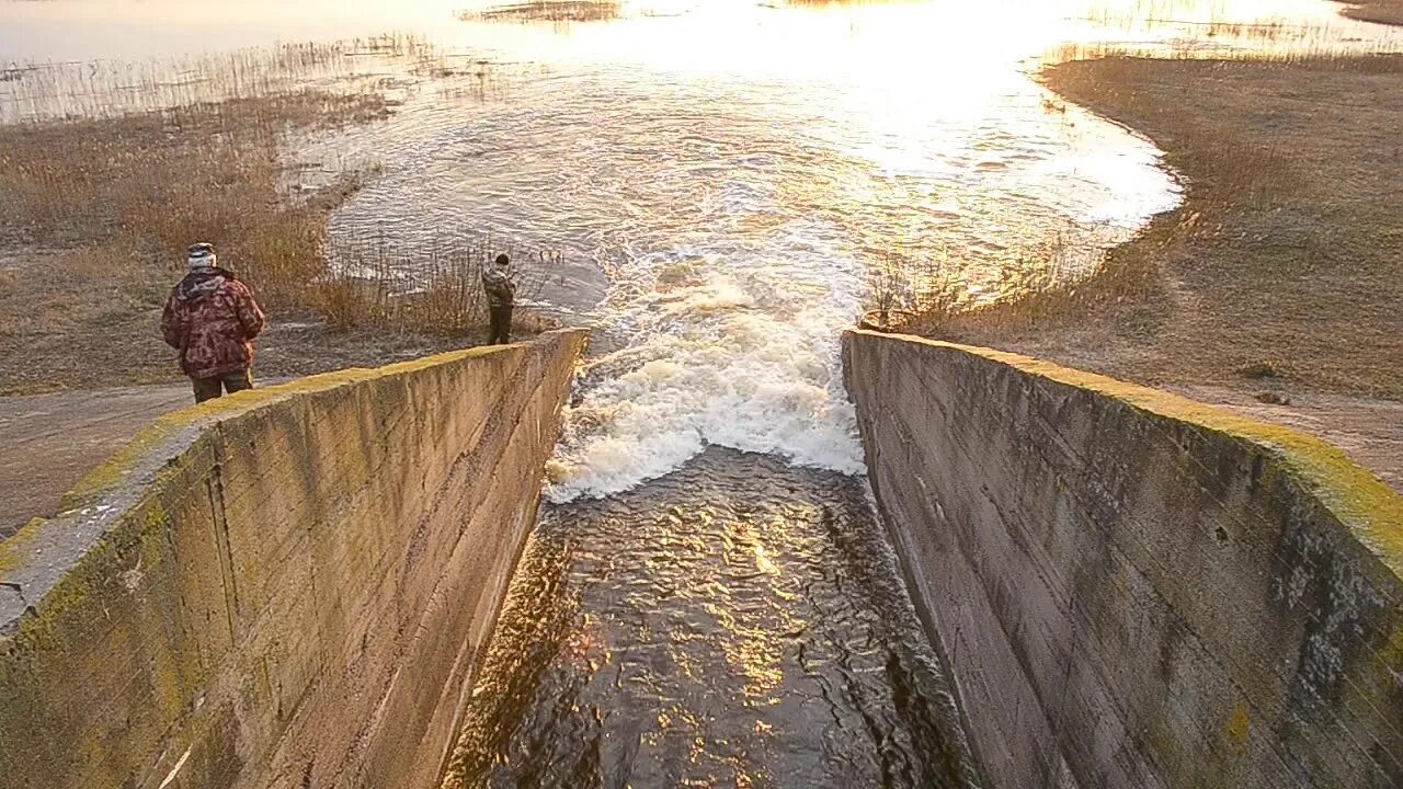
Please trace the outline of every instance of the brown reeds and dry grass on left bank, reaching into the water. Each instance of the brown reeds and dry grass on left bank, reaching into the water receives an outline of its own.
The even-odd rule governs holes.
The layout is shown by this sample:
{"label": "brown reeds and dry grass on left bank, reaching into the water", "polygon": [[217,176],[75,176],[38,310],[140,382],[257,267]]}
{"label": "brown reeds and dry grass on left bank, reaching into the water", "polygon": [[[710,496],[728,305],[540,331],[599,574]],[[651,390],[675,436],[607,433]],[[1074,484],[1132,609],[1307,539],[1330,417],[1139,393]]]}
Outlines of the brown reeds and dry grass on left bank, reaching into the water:
{"label": "brown reeds and dry grass on left bank, reaching into the water", "polygon": [[[431,79],[453,70],[407,35],[0,69],[0,118],[13,121],[0,122],[0,247],[83,250],[139,270],[142,289],[159,293],[181,272],[185,246],[210,241],[275,313],[432,333],[481,324],[481,265],[501,251],[490,237],[328,247],[328,211],[366,173],[286,188],[283,140],[384,118],[384,80],[361,77],[405,66]],[[560,261],[526,257],[530,299],[535,272]]]}

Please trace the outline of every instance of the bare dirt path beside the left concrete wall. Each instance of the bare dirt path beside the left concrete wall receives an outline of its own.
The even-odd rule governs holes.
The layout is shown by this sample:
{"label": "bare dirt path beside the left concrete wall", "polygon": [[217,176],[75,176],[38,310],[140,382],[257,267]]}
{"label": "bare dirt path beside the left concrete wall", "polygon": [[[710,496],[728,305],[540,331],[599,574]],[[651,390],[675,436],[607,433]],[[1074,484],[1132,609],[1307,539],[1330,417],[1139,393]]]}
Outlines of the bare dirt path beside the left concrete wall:
{"label": "bare dirt path beside the left concrete wall", "polygon": [[191,403],[188,383],[0,397],[0,539],[52,515],[83,475]]}

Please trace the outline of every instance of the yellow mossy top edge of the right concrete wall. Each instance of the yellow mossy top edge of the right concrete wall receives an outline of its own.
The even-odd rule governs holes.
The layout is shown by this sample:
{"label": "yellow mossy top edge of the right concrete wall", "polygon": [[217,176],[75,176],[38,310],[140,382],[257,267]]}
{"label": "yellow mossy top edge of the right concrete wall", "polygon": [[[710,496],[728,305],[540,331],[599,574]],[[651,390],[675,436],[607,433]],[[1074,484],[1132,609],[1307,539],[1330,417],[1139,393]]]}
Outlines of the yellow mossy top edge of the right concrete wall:
{"label": "yellow mossy top edge of the right concrete wall", "polygon": [[1277,459],[1282,470],[1316,496],[1379,562],[1403,581],[1403,496],[1351,460],[1338,446],[1287,427],[1242,417],[1180,394],[1065,368],[1033,357],[864,329],[850,329],[845,331],[845,336],[880,337],[969,354],[1031,376],[1101,394],[1145,414],[1186,423],[1250,444]]}

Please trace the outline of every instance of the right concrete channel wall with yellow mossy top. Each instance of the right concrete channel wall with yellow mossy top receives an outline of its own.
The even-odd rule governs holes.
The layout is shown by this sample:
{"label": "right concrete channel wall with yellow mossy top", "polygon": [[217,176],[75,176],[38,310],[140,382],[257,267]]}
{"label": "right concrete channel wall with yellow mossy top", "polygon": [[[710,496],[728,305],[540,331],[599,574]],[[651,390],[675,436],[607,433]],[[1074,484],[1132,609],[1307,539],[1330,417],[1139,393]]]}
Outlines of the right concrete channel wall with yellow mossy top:
{"label": "right concrete channel wall with yellow mossy top", "polygon": [[1338,451],[1012,354],[845,338],[995,788],[1403,786],[1403,501]]}

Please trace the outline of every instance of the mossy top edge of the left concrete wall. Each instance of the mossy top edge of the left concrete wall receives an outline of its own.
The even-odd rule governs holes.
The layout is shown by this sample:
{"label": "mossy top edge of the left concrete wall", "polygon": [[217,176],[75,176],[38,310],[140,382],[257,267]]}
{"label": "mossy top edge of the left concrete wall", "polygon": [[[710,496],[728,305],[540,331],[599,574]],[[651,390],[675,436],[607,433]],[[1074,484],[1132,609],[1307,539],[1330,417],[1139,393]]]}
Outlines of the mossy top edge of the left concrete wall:
{"label": "mossy top edge of the left concrete wall", "polygon": [[257,414],[296,397],[323,394],[373,379],[488,357],[564,338],[582,345],[588,329],[557,329],[511,345],[446,351],[380,368],[349,368],[240,392],[159,417],[132,441],[88,472],[49,518],[34,518],[0,541],[0,651],[15,637],[25,615],[36,612],[63,578],[133,511],[201,438],[224,423]]}

